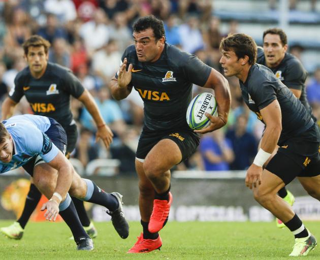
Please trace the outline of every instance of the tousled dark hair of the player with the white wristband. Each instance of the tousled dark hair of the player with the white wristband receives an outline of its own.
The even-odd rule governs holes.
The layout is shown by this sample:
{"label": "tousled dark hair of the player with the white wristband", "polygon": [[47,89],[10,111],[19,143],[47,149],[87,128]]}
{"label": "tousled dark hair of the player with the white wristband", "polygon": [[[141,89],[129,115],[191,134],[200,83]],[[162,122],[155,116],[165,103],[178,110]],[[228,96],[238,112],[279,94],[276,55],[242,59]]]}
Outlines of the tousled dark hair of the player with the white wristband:
{"label": "tousled dark hair of the player with the white wristband", "polygon": [[220,51],[222,50],[234,51],[238,59],[248,56],[250,65],[257,61],[257,44],[245,34],[228,35],[227,38],[223,38],[220,43]]}

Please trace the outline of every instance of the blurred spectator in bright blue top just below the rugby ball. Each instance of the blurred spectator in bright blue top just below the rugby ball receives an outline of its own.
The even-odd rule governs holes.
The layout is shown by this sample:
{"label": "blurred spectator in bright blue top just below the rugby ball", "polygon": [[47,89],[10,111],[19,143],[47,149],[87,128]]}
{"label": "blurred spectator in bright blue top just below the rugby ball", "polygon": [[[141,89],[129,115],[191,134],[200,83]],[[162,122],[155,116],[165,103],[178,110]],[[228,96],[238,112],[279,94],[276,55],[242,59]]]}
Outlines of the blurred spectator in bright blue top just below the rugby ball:
{"label": "blurred spectator in bright blue top just below the rugby ball", "polygon": [[234,160],[234,153],[229,139],[222,129],[207,133],[200,139],[200,152],[206,171],[228,171]]}

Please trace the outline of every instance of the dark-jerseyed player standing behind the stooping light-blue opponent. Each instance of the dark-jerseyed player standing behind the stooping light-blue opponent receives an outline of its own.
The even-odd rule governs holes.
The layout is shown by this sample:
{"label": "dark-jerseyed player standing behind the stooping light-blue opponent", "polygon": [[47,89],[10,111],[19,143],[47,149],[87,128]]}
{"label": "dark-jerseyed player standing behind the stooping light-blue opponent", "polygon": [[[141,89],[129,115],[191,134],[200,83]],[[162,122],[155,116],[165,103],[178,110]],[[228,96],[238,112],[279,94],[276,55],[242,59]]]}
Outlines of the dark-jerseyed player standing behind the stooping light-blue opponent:
{"label": "dark-jerseyed player standing behind the stooping light-blue opponent", "polygon": [[[105,124],[97,104],[69,69],[48,62],[50,43],[41,36],[34,35],[27,39],[22,47],[28,66],[17,74],[14,81],[15,86],[3,102],[2,119],[12,116],[15,106],[25,95],[31,110],[36,115],[49,116],[65,129],[68,138],[66,156],[69,157],[76,146],[78,137],[77,125],[70,110],[70,96],[72,95],[82,102],[92,115],[98,128],[97,139],[101,138],[108,147],[112,142],[113,134]],[[12,225],[1,228],[0,232],[9,238],[21,239],[25,225],[40,198],[40,191],[31,183],[22,215]],[[90,222],[83,202],[76,198],[72,199],[84,229],[92,238],[97,237],[97,230]]]}

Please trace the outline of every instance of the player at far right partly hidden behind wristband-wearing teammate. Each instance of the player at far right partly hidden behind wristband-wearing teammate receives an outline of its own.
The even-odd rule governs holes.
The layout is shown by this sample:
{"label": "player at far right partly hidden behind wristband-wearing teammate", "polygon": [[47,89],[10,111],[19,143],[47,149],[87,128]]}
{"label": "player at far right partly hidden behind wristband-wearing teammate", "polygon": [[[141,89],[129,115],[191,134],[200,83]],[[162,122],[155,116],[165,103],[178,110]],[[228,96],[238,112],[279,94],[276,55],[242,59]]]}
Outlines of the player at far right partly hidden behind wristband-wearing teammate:
{"label": "player at far right partly hidden behind wristband-wearing teammate", "polygon": [[[298,58],[286,52],[287,48],[287,37],[282,29],[267,29],[263,32],[263,48],[258,47],[257,63],[268,67],[301,101],[316,122],[305,90],[307,72]],[[276,147],[277,149],[278,147]],[[276,150],[273,154],[276,153]],[[285,187],[278,191],[278,195],[290,206],[295,202],[295,197]],[[285,226],[279,219],[276,219],[276,225],[278,228]]]}

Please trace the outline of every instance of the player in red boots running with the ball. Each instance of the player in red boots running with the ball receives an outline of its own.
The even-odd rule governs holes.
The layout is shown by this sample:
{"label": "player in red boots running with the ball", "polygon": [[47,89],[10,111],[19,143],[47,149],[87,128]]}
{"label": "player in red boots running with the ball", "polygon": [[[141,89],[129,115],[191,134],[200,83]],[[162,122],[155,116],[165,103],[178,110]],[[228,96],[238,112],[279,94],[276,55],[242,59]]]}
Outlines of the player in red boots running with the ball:
{"label": "player in red boots running with the ball", "polygon": [[[136,152],[139,208],[143,233],[128,253],[159,249],[158,232],[166,224],[172,204],[170,169],[193,154],[199,134],[225,125],[230,109],[228,81],[195,55],[166,43],[164,25],[154,16],[138,19],[133,26],[134,45],[126,48],[121,66],[110,82],[116,100],[125,99],[134,87],[144,101],[144,125]],[[185,114],[193,84],[214,89],[217,117],[193,131]]]}

